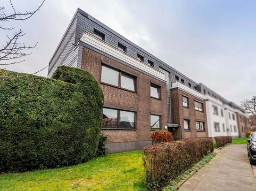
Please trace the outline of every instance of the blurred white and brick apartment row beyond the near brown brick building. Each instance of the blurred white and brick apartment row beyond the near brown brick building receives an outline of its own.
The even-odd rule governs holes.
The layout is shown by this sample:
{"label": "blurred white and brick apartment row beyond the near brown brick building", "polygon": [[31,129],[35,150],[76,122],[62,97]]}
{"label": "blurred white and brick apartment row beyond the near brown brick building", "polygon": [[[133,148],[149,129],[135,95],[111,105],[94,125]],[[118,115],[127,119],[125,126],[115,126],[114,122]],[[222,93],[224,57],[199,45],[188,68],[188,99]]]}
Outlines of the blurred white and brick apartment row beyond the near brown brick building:
{"label": "blurred white and brick apartment row beyond the near brown brick building", "polygon": [[245,137],[249,127],[245,111],[206,85],[198,84],[198,87],[205,95],[209,137]]}

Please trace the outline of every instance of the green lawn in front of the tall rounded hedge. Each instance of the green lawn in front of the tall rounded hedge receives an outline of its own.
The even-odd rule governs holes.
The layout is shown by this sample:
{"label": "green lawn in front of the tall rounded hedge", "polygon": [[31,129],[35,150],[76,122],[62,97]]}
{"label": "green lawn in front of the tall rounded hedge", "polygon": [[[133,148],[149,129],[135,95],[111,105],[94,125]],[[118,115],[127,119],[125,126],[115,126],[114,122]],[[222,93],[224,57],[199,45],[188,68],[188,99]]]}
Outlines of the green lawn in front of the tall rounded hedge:
{"label": "green lawn in front of the tall rounded hedge", "polygon": [[141,151],[95,157],[72,167],[0,174],[7,191],[146,191]]}

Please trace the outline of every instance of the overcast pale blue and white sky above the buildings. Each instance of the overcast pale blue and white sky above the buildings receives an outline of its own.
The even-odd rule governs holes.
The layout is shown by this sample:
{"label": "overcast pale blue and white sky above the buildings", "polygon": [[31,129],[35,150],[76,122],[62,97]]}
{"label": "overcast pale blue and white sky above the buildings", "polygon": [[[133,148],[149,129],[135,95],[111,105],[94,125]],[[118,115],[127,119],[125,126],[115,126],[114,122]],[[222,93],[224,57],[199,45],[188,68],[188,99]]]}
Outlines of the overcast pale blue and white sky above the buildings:
{"label": "overcast pale blue and white sky above the buildings", "polygon": [[[12,1],[20,11],[41,3]],[[11,11],[8,0],[2,4]],[[5,68],[44,68],[78,7],[230,101],[256,95],[256,1],[249,0],[46,0],[31,19],[0,23],[25,31],[20,40],[27,45],[38,42],[24,63]],[[0,45],[6,34],[0,31]],[[47,76],[47,70],[39,75]]]}

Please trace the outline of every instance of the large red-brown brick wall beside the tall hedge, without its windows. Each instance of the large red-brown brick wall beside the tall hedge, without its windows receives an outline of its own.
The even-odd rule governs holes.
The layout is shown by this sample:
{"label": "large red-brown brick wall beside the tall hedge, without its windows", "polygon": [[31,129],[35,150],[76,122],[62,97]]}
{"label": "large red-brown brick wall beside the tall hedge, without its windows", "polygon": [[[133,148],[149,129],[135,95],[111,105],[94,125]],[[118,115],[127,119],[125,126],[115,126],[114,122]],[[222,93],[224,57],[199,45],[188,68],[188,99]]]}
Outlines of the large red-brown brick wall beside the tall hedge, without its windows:
{"label": "large red-brown brick wall beside the tall hedge, without its windows", "polygon": [[[137,76],[137,92],[129,92],[117,87],[100,83],[101,63],[104,62],[121,71],[132,73]],[[143,74],[124,64],[114,61],[91,49],[83,47],[81,68],[90,72],[99,82],[104,94],[104,105],[108,107],[130,108],[136,113],[136,130],[101,130],[107,135],[107,142],[130,142],[150,140],[150,112],[162,114],[161,129],[167,125],[167,105],[166,105],[166,84]],[[150,98],[150,83],[161,85],[161,100]]]}

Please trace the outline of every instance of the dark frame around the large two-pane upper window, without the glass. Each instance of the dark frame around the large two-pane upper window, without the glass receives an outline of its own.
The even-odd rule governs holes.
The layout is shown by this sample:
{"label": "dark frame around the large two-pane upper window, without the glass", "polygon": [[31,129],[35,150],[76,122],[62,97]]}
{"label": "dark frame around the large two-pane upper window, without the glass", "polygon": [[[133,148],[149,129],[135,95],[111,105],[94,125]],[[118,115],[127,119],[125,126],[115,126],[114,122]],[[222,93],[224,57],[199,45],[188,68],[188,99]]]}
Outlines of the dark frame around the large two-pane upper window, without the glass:
{"label": "dark frame around the large two-pane upper window, without the glass", "polygon": [[[103,82],[103,81],[102,81],[102,66],[105,66],[105,67],[107,67],[107,68],[116,70],[116,71],[118,72],[118,86],[117,86],[117,85],[114,85],[114,84],[109,84],[109,83],[106,83],[106,82]],[[121,73],[133,77],[134,91],[121,87]],[[136,85],[137,85],[137,77],[136,77],[136,76],[133,76],[133,75],[131,75],[131,74],[128,74],[128,73],[126,73],[126,72],[124,72],[124,71],[122,71],[122,70],[120,70],[120,69],[116,69],[116,68],[114,68],[114,67],[108,66],[107,64],[104,64],[104,63],[101,64],[101,68],[100,68],[100,83],[101,83],[101,84],[110,85],[110,86],[112,86],[112,87],[116,87],[116,88],[119,88],[119,89],[122,89],[122,90],[126,90],[126,91],[129,91],[129,92],[137,93],[137,87],[136,87]]]}

